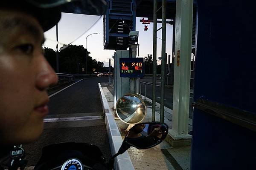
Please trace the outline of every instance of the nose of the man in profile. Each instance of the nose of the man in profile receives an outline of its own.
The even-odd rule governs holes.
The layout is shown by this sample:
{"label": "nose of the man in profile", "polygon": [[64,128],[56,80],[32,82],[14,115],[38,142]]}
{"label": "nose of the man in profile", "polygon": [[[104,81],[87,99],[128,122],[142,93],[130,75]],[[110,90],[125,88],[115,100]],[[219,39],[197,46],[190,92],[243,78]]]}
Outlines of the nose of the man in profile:
{"label": "nose of the man in profile", "polygon": [[57,84],[57,82],[58,75],[56,75],[52,67],[44,58],[41,63],[41,69],[39,70],[38,76],[36,78],[36,87],[39,90],[44,90],[51,85]]}

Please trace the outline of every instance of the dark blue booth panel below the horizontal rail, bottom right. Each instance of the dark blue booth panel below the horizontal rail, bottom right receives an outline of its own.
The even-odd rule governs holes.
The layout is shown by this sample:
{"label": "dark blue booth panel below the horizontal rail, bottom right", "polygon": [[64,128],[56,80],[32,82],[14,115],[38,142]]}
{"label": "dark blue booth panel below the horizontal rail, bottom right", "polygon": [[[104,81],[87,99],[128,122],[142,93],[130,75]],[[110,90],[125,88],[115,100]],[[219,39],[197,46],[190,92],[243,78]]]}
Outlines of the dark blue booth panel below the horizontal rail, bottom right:
{"label": "dark blue booth panel below the horizontal rail, bottom right", "polygon": [[191,170],[254,170],[256,133],[194,109]]}

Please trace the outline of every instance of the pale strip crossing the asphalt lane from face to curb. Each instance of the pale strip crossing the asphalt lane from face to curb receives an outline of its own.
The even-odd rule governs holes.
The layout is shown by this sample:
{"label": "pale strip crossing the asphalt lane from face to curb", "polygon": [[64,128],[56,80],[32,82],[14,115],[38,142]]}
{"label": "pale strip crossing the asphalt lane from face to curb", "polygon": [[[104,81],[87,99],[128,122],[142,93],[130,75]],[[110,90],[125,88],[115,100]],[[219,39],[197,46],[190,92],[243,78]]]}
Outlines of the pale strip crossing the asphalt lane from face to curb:
{"label": "pale strip crossing the asphalt lane from face to curb", "polygon": [[57,122],[57,121],[88,121],[102,119],[102,116],[81,116],[71,118],[45,118],[44,122]]}

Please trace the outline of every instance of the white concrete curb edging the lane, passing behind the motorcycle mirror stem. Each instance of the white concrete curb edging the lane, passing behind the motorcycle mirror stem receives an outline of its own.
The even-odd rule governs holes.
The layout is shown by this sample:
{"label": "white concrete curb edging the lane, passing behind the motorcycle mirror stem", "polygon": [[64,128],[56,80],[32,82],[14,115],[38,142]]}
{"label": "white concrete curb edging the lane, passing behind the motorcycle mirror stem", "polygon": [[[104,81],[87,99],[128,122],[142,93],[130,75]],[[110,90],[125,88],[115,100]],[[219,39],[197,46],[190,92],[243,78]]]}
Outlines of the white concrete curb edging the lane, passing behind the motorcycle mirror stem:
{"label": "white concrete curb edging the lane, passing behind the motorcycle mirror stem", "polygon": [[[100,83],[99,93],[102,102],[103,112],[105,113],[105,124],[108,132],[108,140],[111,148],[111,154],[113,156],[118,152],[123,140]],[[127,151],[115,158],[114,168],[115,170],[134,170],[134,166]]]}

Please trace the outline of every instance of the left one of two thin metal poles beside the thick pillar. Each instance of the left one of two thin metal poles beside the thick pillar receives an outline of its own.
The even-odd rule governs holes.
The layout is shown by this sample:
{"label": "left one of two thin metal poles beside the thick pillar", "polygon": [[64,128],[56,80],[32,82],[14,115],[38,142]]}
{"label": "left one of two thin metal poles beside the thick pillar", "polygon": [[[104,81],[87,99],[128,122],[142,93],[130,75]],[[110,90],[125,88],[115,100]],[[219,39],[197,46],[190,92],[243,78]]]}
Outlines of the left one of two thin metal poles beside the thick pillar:
{"label": "left one of two thin metal poles beside the thick pillar", "polygon": [[153,86],[152,86],[152,121],[156,119],[156,82],[157,82],[157,0],[154,0],[154,34],[153,34]]}

